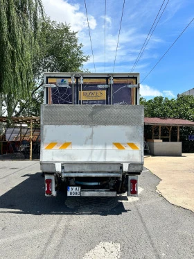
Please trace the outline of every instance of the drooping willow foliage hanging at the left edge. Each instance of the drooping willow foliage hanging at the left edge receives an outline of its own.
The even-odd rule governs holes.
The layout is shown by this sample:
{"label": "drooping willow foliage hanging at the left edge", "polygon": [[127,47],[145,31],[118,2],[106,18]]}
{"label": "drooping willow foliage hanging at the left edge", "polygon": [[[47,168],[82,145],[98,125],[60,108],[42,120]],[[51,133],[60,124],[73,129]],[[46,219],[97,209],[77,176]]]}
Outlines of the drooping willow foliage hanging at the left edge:
{"label": "drooping willow foliage hanging at the left edge", "polygon": [[0,0],[0,93],[28,96],[33,86],[40,0]]}

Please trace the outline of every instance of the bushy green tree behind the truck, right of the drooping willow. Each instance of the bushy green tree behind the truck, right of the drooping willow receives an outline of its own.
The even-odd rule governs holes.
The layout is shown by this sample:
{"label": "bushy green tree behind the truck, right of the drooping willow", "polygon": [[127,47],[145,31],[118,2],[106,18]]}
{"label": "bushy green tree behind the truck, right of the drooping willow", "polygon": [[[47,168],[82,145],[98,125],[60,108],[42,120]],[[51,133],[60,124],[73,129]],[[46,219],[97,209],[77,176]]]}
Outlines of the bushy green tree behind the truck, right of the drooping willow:
{"label": "bushy green tree behind the truck, right of the drooping willow", "polygon": [[[9,104],[10,114],[16,116],[39,115],[40,104],[43,101],[44,72],[81,72],[83,62],[89,59],[82,52],[82,44],[78,43],[77,33],[71,31],[67,24],[52,22],[49,18],[39,23],[37,34],[37,53],[33,60],[32,90],[24,99],[12,98]],[[5,100],[7,100],[5,98]],[[17,110],[15,110],[15,108]]]}

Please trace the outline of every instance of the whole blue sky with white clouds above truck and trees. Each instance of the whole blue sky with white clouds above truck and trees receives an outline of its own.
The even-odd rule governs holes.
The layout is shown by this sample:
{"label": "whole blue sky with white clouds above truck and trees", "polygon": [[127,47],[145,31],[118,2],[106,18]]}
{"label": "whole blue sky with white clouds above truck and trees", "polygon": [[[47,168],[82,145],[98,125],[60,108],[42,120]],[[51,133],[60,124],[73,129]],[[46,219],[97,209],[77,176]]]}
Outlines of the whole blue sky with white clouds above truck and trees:
{"label": "whole blue sky with white clouds above truck and trees", "polygon": [[82,51],[90,56],[84,64],[89,72],[140,73],[140,94],[145,99],[177,98],[194,88],[194,0],[42,3],[52,20],[78,31]]}

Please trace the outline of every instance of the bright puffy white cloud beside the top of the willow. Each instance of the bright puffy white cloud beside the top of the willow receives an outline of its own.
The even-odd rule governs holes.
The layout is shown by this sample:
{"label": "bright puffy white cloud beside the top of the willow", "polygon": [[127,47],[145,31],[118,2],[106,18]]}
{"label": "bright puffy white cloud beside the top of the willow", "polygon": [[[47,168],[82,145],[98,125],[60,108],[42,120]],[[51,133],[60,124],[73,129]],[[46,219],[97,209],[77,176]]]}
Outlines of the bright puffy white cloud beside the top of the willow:
{"label": "bright puffy white cloud beside the top of the willow", "polygon": [[[70,24],[73,31],[81,31],[87,28],[87,17],[84,12],[80,12],[78,4],[70,4],[63,0],[42,0],[46,15],[50,16],[56,22]],[[88,15],[89,27],[96,28],[96,19]]]}

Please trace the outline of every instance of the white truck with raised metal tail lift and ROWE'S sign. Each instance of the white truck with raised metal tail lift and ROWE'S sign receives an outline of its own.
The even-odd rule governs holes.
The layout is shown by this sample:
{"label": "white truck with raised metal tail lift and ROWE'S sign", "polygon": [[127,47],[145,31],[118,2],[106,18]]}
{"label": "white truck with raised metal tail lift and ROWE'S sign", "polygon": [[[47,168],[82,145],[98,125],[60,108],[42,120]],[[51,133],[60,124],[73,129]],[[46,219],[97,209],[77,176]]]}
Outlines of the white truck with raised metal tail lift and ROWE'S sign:
{"label": "white truck with raised metal tail lift and ROWE'S sign", "polygon": [[40,166],[45,195],[138,195],[143,170],[139,74],[45,73]]}

